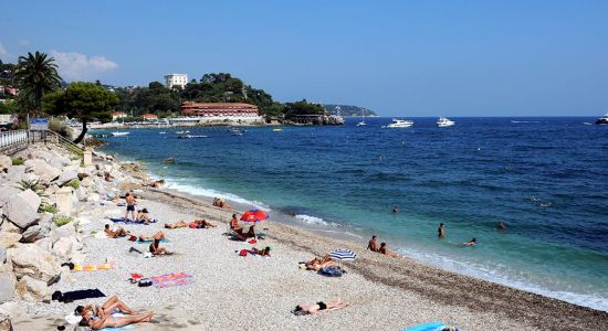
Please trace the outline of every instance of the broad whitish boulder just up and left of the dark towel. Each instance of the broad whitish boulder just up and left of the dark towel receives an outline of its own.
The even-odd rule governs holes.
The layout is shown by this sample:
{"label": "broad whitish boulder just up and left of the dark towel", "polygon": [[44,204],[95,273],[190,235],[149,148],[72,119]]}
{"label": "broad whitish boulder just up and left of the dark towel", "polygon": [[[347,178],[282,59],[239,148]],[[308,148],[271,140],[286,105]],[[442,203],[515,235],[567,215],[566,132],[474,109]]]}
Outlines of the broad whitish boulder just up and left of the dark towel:
{"label": "broad whitish boulder just up and left of the dark towel", "polygon": [[9,248],[7,261],[12,264],[18,279],[30,276],[51,285],[59,279],[61,274],[61,267],[55,257],[35,244]]}

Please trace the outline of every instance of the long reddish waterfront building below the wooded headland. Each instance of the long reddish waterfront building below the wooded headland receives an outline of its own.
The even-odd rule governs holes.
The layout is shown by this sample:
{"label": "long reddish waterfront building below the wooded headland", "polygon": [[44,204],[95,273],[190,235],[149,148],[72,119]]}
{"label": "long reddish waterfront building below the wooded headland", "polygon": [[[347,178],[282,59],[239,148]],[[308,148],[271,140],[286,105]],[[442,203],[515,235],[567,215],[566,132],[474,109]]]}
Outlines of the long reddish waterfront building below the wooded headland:
{"label": "long reddish waterfront building below the wooded headland", "polygon": [[199,117],[258,117],[258,106],[241,103],[184,103],[181,115]]}

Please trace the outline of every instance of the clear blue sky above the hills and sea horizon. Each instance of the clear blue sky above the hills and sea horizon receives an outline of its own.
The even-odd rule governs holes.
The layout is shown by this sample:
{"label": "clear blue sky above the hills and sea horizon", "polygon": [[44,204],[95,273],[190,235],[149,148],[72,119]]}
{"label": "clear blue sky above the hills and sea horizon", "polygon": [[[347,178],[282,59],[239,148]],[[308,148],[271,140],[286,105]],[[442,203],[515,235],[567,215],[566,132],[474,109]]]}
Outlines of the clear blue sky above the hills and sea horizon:
{"label": "clear blue sky above the hills and sea horizon", "polygon": [[385,116],[608,110],[608,1],[8,1],[0,58],[66,81],[229,72],[280,102]]}

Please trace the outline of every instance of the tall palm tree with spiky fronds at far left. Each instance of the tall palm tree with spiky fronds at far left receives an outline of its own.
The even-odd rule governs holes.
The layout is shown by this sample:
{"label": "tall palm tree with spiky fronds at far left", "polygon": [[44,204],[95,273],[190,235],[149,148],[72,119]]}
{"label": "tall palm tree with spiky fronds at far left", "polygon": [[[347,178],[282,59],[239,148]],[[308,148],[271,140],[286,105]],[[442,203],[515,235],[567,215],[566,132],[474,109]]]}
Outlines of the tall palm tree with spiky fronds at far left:
{"label": "tall palm tree with spiky fronds at far left", "polygon": [[42,110],[42,96],[55,90],[61,85],[57,65],[53,57],[40,52],[28,56],[19,56],[15,78],[19,85],[19,100],[36,111]]}

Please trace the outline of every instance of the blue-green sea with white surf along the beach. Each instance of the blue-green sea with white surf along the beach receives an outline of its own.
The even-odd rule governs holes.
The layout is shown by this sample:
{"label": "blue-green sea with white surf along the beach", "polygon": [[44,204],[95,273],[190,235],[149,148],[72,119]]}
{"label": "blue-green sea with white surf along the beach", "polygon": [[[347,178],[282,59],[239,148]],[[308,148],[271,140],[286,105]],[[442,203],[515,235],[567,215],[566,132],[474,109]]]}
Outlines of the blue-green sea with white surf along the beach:
{"label": "blue-green sea with white surf along the beach", "polygon": [[[449,128],[410,119],[403,129],[382,128],[390,118],[365,118],[365,127],[348,118],[242,136],[134,129],[104,138],[104,150],[145,163],[170,189],[264,209],[269,222],[357,241],[361,250],[377,235],[428,265],[608,311],[608,126],[588,117],[452,118]],[[461,245],[473,237],[476,246]]]}

